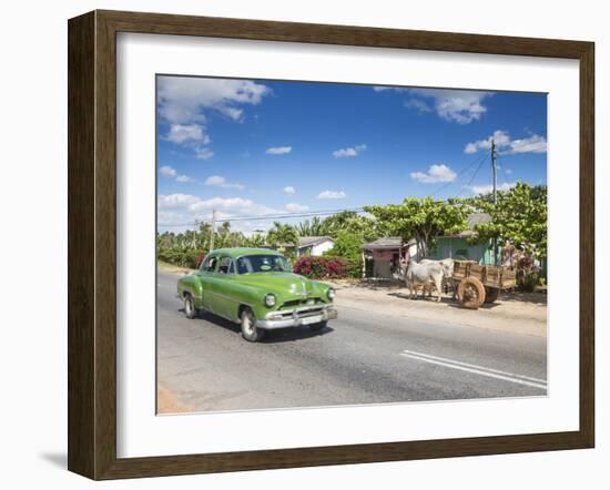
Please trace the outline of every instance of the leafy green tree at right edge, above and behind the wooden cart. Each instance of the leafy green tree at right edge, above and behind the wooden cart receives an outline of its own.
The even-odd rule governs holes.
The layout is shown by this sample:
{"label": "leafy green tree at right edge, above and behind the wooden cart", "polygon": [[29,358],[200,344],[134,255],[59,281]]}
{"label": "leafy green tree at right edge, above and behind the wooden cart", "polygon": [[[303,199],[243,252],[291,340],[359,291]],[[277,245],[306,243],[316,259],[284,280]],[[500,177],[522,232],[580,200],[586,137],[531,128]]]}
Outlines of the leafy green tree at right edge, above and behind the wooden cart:
{"label": "leafy green tree at right edge, above and behind the wooden cart", "polygon": [[477,241],[496,238],[498,245],[514,245],[536,258],[547,256],[547,186],[529,186],[519,182],[506,192],[498,192],[497,203],[479,197],[468,203],[485,213],[491,222],[475,226]]}

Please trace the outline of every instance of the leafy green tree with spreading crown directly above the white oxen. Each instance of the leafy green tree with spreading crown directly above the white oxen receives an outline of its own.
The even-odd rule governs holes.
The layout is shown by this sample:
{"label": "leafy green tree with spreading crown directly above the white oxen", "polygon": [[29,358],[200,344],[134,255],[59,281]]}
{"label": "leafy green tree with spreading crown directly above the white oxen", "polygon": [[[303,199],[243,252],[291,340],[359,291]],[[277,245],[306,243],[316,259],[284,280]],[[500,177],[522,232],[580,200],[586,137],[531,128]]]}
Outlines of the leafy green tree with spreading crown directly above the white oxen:
{"label": "leafy green tree with spreading crown directly above the white oxen", "polygon": [[386,236],[415,238],[420,256],[429,255],[440,235],[466,227],[468,207],[457,200],[435,201],[433,197],[407,197],[401,204],[365,206],[377,220],[377,229]]}

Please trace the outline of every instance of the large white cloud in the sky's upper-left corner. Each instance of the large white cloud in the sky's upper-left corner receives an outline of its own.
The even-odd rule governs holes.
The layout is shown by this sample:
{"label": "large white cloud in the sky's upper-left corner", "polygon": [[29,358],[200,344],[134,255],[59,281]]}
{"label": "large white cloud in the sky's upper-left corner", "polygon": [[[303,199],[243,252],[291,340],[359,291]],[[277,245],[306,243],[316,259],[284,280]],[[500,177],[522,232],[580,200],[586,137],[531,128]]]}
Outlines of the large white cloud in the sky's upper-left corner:
{"label": "large white cloud in the sky's upper-left corner", "polygon": [[172,124],[204,123],[204,110],[238,121],[243,110],[237,105],[256,105],[268,93],[267,86],[250,80],[161,76],[157,106],[161,118]]}

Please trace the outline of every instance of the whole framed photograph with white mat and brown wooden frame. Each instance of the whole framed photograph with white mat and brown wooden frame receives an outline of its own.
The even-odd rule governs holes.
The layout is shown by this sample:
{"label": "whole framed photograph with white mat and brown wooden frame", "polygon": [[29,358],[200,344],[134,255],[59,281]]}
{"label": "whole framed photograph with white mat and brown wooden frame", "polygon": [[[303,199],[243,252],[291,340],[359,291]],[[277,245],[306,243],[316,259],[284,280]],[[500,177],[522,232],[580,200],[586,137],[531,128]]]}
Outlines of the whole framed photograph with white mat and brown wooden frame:
{"label": "whole framed photograph with white mat and brown wooden frame", "polygon": [[594,443],[593,43],[69,21],[69,469]]}

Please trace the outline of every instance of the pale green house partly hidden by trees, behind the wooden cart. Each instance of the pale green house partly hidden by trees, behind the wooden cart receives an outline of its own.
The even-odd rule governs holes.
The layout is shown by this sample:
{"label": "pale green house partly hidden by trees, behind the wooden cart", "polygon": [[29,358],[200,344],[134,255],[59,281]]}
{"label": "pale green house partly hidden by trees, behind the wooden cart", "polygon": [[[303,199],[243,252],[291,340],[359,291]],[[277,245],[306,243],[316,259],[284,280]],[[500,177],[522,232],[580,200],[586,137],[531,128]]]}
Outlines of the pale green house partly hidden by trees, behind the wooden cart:
{"label": "pale green house partly hidden by trees, behind the wooden cart", "polygon": [[471,243],[472,237],[476,235],[475,226],[489,222],[491,222],[491,216],[487,213],[474,213],[469,215],[466,229],[453,235],[437,237],[436,246],[430,251],[430,258],[440,261],[450,257],[461,261],[475,261],[481,265],[499,264],[499,247],[497,259],[494,261],[494,241]]}

